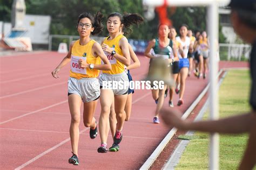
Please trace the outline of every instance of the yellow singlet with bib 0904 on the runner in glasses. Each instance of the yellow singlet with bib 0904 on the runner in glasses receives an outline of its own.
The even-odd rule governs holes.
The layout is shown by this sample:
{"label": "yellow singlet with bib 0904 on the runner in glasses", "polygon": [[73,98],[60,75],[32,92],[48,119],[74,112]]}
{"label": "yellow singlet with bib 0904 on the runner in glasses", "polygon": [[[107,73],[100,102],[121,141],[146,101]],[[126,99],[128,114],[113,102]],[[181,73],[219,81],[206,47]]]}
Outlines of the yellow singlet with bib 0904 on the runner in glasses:
{"label": "yellow singlet with bib 0904 on the runner in glasses", "polygon": [[82,79],[83,77],[97,77],[99,75],[99,70],[97,69],[83,69],[78,66],[79,59],[86,60],[87,63],[100,65],[100,57],[92,55],[92,46],[95,42],[95,40],[90,40],[86,45],[80,45],[79,40],[77,40],[73,44],[70,61],[70,77]]}

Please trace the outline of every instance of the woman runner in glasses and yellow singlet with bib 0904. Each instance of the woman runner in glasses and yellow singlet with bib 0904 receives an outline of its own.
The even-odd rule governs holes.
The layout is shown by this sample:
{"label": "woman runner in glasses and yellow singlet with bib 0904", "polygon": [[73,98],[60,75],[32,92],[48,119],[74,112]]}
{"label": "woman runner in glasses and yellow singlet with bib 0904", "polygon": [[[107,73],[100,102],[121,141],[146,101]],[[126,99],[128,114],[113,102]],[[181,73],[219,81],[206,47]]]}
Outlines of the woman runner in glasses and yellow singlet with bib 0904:
{"label": "woman runner in glasses and yellow singlet with bib 0904", "polygon": [[[94,17],[90,13],[82,13],[78,17],[77,31],[79,40],[72,41],[69,52],[59,63],[52,76],[58,78],[57,73],[70,62],[70,78],[68,81],[68,101],[71,114],[70,139],[72,157],[69,163],[79,165],[78,141],[80,106],[84,103],[83,121],[86,127],[90,127],[90,137],[97,136],[96,119],[93,117],[100,95],[99,82],[96,77],[99,70],[110,70],[111,65],[98,42],[90,38],[90,34],[98,34],[103,30],[103,15],[97,13]],[[104,64],[100,64],[100,59]]]}

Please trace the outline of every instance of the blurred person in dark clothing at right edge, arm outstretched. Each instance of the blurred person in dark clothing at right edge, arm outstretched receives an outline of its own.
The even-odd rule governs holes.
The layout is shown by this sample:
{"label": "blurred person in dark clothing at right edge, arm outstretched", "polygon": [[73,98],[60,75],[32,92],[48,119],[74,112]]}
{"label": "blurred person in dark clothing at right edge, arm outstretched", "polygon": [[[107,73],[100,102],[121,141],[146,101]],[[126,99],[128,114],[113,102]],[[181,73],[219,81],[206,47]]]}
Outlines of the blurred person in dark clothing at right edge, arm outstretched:
{"label": "blurred person in dark clothing at right edge, arm outstretched", "polygon": [[180,118],[178,110],[163,109],[160,111],[165,124],[180,130],[198,130],[218,133],[250,133],[246,150],[239,169],[252,169],[256,163],[256,1],[231,0],[231,22],[234,31],[252,44],[250,69],[252,77],[250,104],[251,112],[213,121],[191,122]]}

